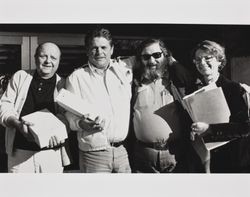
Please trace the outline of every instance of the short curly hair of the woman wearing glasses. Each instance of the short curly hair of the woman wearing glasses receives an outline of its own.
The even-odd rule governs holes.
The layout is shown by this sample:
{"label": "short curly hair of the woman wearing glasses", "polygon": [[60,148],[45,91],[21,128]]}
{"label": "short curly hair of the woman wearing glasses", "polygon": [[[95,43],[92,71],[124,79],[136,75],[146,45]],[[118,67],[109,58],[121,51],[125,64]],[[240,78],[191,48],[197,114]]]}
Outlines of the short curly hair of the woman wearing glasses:
{"label": "short curly hair of the woman wearing glasses", "polygon": [[225,48],[223,46],[214,41],[204,40],[197,44],[196,47],[193,49],[191,54],[192,59],[195,58],[195,53],[199,49],[211,53],[219,62],[221,62],[221,65],[219,66],[219,71],[224,68],[227,63],[227,60],[225,55]]}

